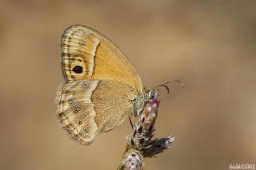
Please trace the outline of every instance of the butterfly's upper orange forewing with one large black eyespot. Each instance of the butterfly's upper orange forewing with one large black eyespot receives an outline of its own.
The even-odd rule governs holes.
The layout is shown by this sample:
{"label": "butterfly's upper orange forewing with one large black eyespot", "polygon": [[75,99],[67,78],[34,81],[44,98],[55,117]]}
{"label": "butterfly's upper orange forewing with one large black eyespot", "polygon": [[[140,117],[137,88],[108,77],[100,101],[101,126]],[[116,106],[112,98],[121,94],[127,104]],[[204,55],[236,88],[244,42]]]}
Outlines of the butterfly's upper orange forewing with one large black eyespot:
{"label": "butterfly's upper orange forewing with one large black eyespot", "polygon": [[86,26],[70,26],[62,36],[62,72],[66,81],[110,80],[142,92],[134,67],[110,39]]}

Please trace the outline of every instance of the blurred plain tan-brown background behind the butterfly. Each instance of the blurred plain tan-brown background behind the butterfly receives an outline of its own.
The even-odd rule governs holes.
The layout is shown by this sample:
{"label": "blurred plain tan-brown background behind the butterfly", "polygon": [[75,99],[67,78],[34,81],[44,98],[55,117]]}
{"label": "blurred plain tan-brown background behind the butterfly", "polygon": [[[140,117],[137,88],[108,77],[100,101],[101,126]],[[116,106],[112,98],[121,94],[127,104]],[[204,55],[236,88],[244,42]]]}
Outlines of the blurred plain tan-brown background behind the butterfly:
{"label": "blurred plain tan-brown background behind the butterfly", "polygon": [[116,169],[129,121],[84,147],[55,115],[60,39],[82,24],[115,42],[162,90],[156,136],[176,136],[145,169],[256,164],[255,1],[3,1],[0,6],[0,169]]}

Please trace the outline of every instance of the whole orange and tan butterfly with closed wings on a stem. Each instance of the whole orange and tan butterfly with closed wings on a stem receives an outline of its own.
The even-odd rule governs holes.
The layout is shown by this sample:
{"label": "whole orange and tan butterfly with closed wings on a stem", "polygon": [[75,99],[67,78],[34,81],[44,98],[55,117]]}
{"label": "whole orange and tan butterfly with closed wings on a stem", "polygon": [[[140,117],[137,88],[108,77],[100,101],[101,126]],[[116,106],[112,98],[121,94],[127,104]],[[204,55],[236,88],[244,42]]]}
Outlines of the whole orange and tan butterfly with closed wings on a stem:
{"label": "whole orange and tan butterfly with closed wings on a stem", "polygon": [[95,136],[138,116],[158,89],[146,90],[134,67],[106,36],[87,26],[70,26],[62,36],[65,82],[56,97],[58,118],[74,140]]}

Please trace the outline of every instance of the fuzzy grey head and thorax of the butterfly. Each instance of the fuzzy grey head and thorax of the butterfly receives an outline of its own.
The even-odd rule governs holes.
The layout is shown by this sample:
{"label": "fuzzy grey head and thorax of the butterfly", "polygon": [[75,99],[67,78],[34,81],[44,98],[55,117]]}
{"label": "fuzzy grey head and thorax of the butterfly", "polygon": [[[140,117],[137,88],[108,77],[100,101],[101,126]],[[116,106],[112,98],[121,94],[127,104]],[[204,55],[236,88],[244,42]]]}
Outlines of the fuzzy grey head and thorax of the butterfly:
{"label": "fuzzy grey head and thorax of the butterfly", "polygon": [[157,95],[157,89],[143,90],[142,93],[134,99],[134,117],[142,113],[145,105]]}

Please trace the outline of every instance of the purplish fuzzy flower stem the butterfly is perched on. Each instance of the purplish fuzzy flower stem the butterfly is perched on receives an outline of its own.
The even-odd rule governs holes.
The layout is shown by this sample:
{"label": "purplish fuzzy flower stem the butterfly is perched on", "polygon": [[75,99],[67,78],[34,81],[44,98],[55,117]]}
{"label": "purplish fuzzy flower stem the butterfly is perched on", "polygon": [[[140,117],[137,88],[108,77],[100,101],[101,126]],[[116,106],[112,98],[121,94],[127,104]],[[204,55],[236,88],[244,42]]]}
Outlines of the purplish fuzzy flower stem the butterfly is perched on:
{"label": "purplish fuzzy flower stem the butterfly is perched on", "polygon": [[157,97],[152,99],[146,105],[137,123],[133,125],[133,132],[127,136],[126,149],[118,170],[142,169],[144,158],[154,157],[156,154],[164,152],[173,143],[174,137],[171,136],[152,140],[159,102]]}

